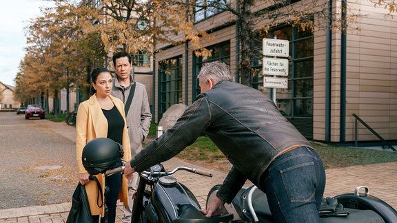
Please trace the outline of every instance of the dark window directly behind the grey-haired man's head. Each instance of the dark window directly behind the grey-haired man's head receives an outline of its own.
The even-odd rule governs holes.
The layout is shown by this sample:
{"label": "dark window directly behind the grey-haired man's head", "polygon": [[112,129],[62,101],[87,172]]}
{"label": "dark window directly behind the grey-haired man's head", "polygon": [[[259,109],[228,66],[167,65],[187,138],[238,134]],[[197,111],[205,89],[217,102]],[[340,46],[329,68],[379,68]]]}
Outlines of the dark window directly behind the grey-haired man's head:
{"label": "dark window directly behind the grey-haired man's head", "polygon": [[196,67],[193,76],[193,83],[195,83],[193,86],[196,86],[194,91],[196,94],[193,93],[193,98],[196,98],[196,96],[200,94],[199,81],[196,80],[196,77],[199,75],[201,67],[203,67],[203,63],[221,61],[227,65],[230,65],[230,41],[212,45],[207,47],[207,50],[210,50],[211,56],[200,56],[196,58]]}

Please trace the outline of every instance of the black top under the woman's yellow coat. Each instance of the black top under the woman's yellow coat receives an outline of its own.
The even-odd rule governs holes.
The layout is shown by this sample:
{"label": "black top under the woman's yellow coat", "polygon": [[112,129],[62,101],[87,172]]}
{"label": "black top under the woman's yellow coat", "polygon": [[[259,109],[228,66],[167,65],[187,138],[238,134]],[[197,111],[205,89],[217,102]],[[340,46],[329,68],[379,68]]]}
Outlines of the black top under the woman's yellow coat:
{"label": "black top under the woman's yellow coat", "polygon": [[110,110],[102,109],[102,111],[106,119],[108,119],[108,138],[123,145],[123,116],[121,116],[116,106],[113,106]]}

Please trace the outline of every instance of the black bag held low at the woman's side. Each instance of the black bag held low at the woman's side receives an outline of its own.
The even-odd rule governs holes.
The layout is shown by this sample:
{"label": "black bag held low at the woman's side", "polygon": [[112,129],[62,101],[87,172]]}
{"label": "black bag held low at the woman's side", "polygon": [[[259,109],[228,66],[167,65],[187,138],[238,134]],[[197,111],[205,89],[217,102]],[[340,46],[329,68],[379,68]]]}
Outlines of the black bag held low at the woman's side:
{"label": "black bag held low at the woman's side", "polygon": [[85,187],[77,184],[76,190],[74,190],[72,197],[72,207],[68,215],[66,223],[78,223],[87,222],[92,223],[90,204],[88,204],[87,193]]}

